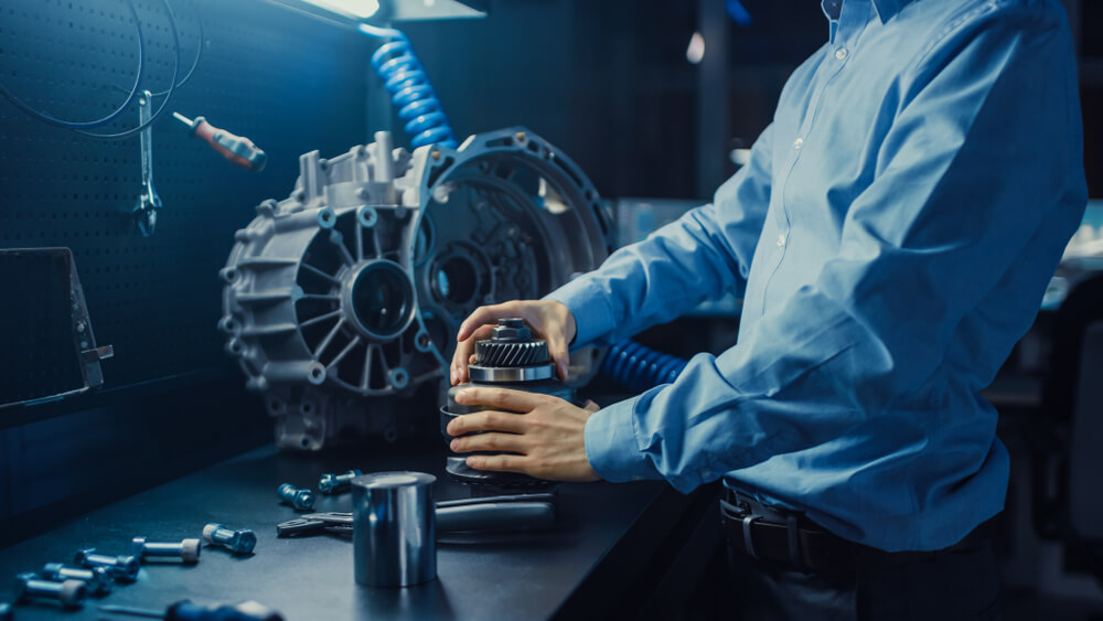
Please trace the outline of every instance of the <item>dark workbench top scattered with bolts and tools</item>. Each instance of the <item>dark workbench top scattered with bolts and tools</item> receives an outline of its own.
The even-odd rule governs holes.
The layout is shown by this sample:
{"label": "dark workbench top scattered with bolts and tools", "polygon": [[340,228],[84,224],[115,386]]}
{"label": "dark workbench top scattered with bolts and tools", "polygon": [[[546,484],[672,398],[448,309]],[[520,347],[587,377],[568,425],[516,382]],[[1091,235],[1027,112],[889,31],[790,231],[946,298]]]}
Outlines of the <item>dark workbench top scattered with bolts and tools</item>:
{"label": "dark workbench top scattered with bolts and tools", "polygon": [[[0,580],[46,563],[72,561],[81,547],[129,554],[132,537],[176,542],[200,537],[205,523],[221,522],[253,528],[256,554],[236,558],[222,548],[204,547],[199,565],[146,565],[137,583],[118,585],[101,600],[89,598],[83,611],[38,603],[17,607],[15,619],[128,619],[99,613],[97,606],[163,608],[183,598],[199,603],[257,600],[281,611],[288,621],[574,617],[600,610],[602,606],[591,607],[593,600],[608,607],[623,598],[618,589],[629,588],[631,580],[625,578],[652,561],[663,546],[670,548],[687,520],[699,522],[699,515],[692,515],[700,513],[699,500],[663,483],[564,484],[555,529],[442,537],[437,548],[438,579],[408,589],[357,586],[347,539],[276,537],[276,524],[297,516],[278,503],[276,488],[289,482],[317,492],[323,472],[419,470],[437,475],[436,500],[470,496],[469,488],[443,477],[443,447],[436,445],[323,454],[258,449],[0,550]],[[314,508],[351,511],[351,496],[319,494]],[[0,582],[0,589],[6,588]],[[10,599],[7,595],[0,590],[0,601]]]}

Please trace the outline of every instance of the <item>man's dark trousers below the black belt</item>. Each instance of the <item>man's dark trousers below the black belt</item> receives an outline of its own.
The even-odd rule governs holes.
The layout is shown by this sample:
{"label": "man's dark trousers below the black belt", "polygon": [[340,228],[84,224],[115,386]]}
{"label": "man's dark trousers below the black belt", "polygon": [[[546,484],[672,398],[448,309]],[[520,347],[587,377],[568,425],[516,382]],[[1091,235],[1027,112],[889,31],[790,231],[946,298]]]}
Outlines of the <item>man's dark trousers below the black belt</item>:
{"label": "man's dark trousers below the black belt", "polygon": [[728,549],[736,619],[999,619],[999,582],[989,542],[930,559],[837,575],[805,574]]}

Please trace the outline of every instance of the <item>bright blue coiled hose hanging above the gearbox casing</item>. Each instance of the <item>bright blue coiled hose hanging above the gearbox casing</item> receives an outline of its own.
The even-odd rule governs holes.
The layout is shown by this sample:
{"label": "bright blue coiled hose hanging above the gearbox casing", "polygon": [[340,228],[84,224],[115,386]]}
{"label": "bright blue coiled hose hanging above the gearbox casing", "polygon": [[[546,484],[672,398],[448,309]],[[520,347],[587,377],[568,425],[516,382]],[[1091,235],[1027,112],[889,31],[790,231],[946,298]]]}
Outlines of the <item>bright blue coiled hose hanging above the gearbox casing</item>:
{"label": "bright blue coiled hose hanging above the gearbox casing", "polygon": [[429,84],[429,76],[421,62],[414,55],[414,46],[401,31],[390,28],[360,25],[361,32],[381,39],[390,39],[372,54],[372,67],[390,93],[390,100],[398,108],[398,118],[406,121],[403,129],[410,136],[414,149],[426,144],[459,147],[440,100]]}

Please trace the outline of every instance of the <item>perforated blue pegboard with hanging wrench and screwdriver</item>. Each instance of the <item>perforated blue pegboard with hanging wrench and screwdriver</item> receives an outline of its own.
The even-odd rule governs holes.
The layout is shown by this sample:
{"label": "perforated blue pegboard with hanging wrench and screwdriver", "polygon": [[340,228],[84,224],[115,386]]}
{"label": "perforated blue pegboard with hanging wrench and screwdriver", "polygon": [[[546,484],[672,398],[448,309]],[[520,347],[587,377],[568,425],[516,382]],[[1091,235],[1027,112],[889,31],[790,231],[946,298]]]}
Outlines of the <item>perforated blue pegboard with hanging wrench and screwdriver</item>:
{"label": "perforated blue pegboard with hanging wrench and screwdriver", "polygon": [[[143,87],[156,93],[172,72],[171,30],[160,0],[135,3],[146,39]],[[103,365],[105,387],[215,367],[235,373],[215,329],[217,272],[234,232],[260,201],[290,192],[301,153],[338,154],[368,136],[366,38],[261,0],[170,3],[179,77],[199,45],[199,20],[204,41],[195,74],[153,126],[153,181],[164,204],[153,236],[142,237],[131,216],[141,192],[137,136],[86,138],[0,98],[0,247],[73,250],[97,341],[115,347]],[[105,116],[126,100],[137,58],[122,0],[0,0],[0,81],[36,109],[73,120]],[[231,165],[171,111],[251,138],[268,167]],[[121,131],[137,118],[133,105],[99,131]]]}

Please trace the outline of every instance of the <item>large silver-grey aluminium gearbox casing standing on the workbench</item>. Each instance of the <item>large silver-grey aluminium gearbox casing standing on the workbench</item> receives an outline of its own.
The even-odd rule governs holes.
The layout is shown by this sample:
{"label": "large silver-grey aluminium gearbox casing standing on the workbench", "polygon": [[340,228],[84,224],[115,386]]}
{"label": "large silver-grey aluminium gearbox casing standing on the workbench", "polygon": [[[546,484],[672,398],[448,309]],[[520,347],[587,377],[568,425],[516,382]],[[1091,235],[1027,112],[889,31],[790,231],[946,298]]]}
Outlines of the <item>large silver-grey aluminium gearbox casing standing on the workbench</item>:
{"label": "large silver-grey aluminium gearbox casing standing on the workbench", "polygon": [[[300,157],[291,195],[257,207],[219,272],[226,351],[285,449],[396,440],[419,413],[383,397],[439,393],[471,311],[539,298],[612,247],[590,181],[527,129],[414,153],[375,140]],[[599,357],[572,355],[576,382]]]}

